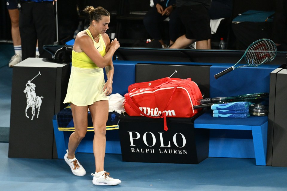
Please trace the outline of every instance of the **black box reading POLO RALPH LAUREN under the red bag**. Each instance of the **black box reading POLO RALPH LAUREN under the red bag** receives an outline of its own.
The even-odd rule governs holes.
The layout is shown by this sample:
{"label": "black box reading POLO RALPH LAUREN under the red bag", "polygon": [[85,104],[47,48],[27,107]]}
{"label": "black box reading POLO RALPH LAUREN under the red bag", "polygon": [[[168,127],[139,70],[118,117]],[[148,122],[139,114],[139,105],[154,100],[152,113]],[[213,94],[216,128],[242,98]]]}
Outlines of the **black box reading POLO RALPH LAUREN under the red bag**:
{"label": "black box reading POLO RALPH LAUREN under the red bag", "polygon": [[123,161],[198,164],[208,157],[209,130],[195,129],[191,118],[121,117]]}

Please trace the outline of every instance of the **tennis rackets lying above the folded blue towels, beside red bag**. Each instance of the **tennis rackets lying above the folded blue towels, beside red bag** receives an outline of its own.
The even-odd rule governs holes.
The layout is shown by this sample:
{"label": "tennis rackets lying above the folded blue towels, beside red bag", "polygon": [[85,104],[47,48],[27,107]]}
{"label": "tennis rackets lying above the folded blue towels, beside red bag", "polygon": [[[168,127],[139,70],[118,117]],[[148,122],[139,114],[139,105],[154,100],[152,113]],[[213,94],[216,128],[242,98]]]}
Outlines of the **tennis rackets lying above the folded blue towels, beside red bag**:
{"label": "tennis rackets lying above the folded blue towels, beside red bag", "polygon": [[194,105],[193,109],[211,107],[214,104],[222,104],[222,103],[231,103],[238,101],[254,101],[260,98],[269,97],[269,93],[252,93],[252,94],[244,94],[240,96],[231,96],[231,97],[219,97],[219,98],[206,98],[200,99],[199,105]]}

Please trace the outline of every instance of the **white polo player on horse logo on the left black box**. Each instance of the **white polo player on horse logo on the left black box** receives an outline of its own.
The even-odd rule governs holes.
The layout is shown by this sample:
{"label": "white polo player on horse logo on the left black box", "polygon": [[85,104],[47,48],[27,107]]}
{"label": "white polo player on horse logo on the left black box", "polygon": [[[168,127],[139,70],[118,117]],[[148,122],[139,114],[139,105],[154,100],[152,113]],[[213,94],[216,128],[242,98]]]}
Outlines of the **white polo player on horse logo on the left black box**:
{"label": "white polo player on horse logo on the left black box", "polygon": [[[38,75],[41,75],[41,73],[39,72],[39,74],[37,74],[37,76]],[[35,76],[33,79],[35,79],[37,76]],[[31,120],[33,120],[34,116],[36,115],[36,109],[37,108],[38,108],[37,118],[39,118],[40,107],[42,104],[41,98],[43,98],[42,96],[39,97],[36,95],[36,92],[35,92],[36,85],[31,82],[33,79],[31,79],[27,82],[26,88],[24,90],[24,93],[26,94],[26,98],[27,98],[27,106],[26,106],[26,110],[25,110],[25,115],[27,118],[29,118],[29,116],[27,115],[27,110],[31,107],[32,108]]]}

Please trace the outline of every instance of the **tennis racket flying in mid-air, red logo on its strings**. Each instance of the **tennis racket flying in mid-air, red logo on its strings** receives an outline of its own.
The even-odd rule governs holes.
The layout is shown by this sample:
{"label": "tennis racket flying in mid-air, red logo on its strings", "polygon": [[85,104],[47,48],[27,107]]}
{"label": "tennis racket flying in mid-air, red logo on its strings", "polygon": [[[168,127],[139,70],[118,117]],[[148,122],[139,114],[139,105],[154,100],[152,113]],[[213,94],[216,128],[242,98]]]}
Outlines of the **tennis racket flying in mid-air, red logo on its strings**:
{"label": "tennis racket flying in mid-air, red logo on its strings", "polygon": [[249,45],[249,47],[246,49],[244,55],[240,58],[240,60],[236,63],[238,64],[242,58],[245,58],[245,62],[248,65],[244,66],[236,66],[234,64],[232,67],[229,67],[228,69],[214,75],[215,79],[227,74],[228,72],[231,72],[232,70],[240,67],[257,67],[261,64],[264,64],[267,61],[272,61],[277,54],[277,47],[275,43],[269,39],[262,38],[260,40],[257,40]]}

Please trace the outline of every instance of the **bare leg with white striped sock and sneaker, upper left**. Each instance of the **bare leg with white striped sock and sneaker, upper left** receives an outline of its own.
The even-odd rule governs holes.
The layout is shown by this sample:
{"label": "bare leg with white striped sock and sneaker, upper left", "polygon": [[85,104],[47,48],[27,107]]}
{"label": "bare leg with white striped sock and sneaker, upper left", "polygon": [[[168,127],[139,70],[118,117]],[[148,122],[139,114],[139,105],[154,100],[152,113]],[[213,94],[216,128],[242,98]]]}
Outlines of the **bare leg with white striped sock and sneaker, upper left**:
{"label": "bare leg with white striped sock and sneaker, upper left", "polygon": [[9,61],[9,67],[13,67],[22,61],[22,47],[19,32],[19,10],[17,7],[17,0],[7,0],[6,5],[11,20],[11,35],[15,51],[15,55],[12,56]]}

